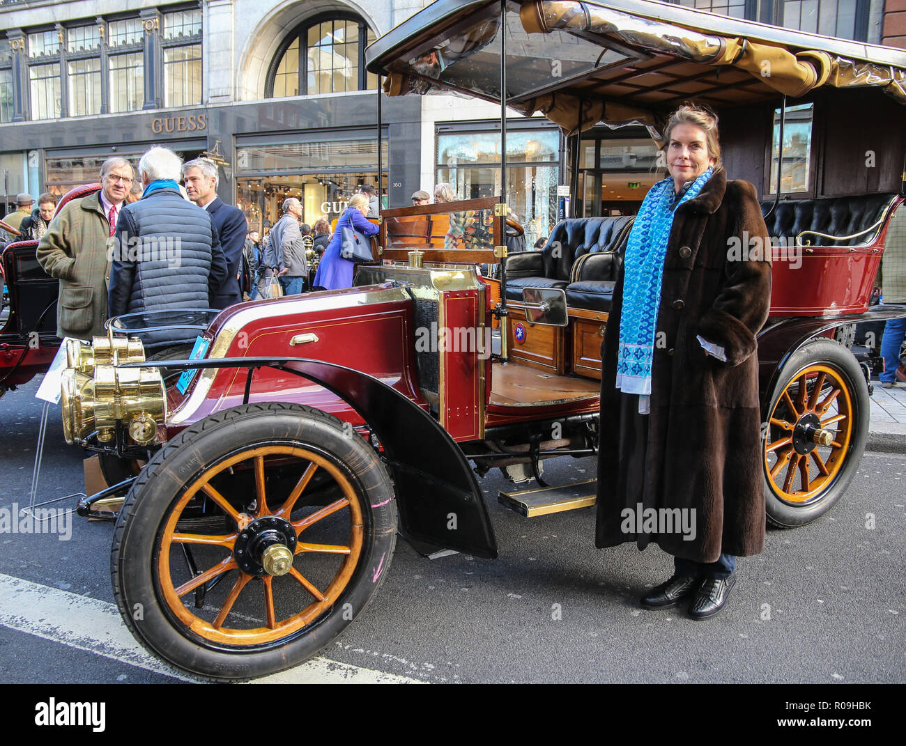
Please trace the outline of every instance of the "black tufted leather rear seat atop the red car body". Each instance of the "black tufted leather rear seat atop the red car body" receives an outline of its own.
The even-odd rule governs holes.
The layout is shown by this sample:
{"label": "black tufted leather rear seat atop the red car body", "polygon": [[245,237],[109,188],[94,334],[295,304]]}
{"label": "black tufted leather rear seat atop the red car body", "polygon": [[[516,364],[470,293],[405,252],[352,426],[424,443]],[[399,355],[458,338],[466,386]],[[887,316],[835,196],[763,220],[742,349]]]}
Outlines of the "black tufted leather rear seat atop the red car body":
{"label": "black tufted leather rear seat atop the red car body", "polygon": [[[787,245],[795,245],[795,237],[803,231],[817,231],[829,235],[853,235],[877,223],[895,195],[860,195],[795,199],[780,202],[766,218],[767,233],[772,237],[785,236]],[[761,214],[774,204],[773,200],[761,203]],[[852,239],[834,241],[816,235],[805,235],[803,241],[813,246],[851,246],[864,244],[872,234]]]}

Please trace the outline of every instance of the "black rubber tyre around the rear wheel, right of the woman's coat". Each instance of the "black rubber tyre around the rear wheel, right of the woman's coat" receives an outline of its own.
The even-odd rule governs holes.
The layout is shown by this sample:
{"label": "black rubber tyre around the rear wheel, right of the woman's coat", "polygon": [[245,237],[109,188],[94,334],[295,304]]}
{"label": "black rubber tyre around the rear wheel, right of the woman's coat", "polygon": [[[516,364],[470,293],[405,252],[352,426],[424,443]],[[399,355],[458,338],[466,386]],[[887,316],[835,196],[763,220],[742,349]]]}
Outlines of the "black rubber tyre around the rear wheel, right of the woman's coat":
{"label": "black rubber tyre around the rear wheel, right of the woman's coat", "polygon": [[[853,353],[843,345],[829,339],[812,340],[801,349],[796,350],[786,362],[776,388],[771,396],[771,403],[767,410],[768,416],[774,411],[777,400],[782,396],[784,389],[795,380],[799,374],[814,365],[824,365],[833,368],[839,374],[849,392],[853,412],[853,433],[845,452],[843,465],[834,477],[834,480],[824,487],[823,491],[810,502],[802,505],[790,504],[781,499],[776,493],[775,484],[767,473],[765,478],[765,502],[768,523],[777,528],[795,528],[804,526],[817,520],[828,512],[834,502],[840,499],[846,488],[853,481],[859,470],[862,455],[865,451],[865,442],[868,438],[871,402],[868,395],[868,386],[859,363]],[[762,453],[764,453],[764,442]]]}

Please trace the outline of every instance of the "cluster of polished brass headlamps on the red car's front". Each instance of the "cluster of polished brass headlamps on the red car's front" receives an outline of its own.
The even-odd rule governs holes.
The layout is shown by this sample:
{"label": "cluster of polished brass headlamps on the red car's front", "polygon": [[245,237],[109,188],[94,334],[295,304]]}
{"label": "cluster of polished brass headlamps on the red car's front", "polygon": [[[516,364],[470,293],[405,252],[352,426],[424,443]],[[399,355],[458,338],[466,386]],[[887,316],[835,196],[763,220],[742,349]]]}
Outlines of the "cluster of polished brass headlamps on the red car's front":
{"label": "cluster of polished brass headlamps on the red car's front", "polygon": [[63,435],[69,444],[98,431],[109,443],[121,422],[130,438],[149,445],[164,421],[166,391],[157,368],[120,368],[144,362],[140,340],[95,337],[92,345],[67,342],[69,367],[63,371]]}

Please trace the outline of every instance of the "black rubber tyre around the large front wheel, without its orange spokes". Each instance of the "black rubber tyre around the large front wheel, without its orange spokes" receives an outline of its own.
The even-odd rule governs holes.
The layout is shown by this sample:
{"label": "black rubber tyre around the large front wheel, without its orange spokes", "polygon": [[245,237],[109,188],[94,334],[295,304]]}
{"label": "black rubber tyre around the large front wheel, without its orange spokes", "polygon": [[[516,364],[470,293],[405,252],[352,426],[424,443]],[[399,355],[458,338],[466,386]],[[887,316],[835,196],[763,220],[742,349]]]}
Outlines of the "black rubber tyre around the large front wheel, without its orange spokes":
{"label": "black rubber tyre around the large front wheel, without its orange spokes", "polygon": [[[298,445],[331,461],[363,518],[361,554],[346,586],[320,617],[265,646],[228,646],[190,635],[162,598],[156,548],[180,495],[212,464],[255,445]],[[352,623],[387,577],[396,543],[393,486],[378,455],[336,417],[307,406],[248,404],[208,416],[165,445],[126,496],[111,550],[113,593],[142,646],[178,669],[217,681],[246,680],[302,663]],[[140,609],[140,619],[133,618]]]}

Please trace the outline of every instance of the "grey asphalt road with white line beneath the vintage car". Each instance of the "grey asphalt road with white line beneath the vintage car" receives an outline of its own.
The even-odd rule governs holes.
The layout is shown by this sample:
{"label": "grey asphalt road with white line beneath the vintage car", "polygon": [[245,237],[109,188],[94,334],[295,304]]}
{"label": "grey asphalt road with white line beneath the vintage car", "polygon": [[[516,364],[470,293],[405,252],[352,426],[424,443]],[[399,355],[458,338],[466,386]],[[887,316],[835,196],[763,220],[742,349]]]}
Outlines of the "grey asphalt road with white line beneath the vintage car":
{"label": "grey asphalt road with white line beneath the vintage car", "polygon": [[[41,402],[32,383],[0,400],[0,511],[27,502]],[[906,681],[906,455],[865,454],[828,515],[768,531],[740,559],[719,617],[646,611],[670,575],[657,548],[593,547],[593,509],[524,519],[481,482],[500,557],[424,559],[403,540],[365,613],[321,659],[276,680],[424,682]],[[592,459],[546,464],[589,479]],[[38,502],[82,489],[82,454],[51,408]],[[57,503],[63,504],[63,503]],[[866,528],[866,514],[874,528]],[[142,655],[111,607],[112,526],[74,517],[72,537],[0,533],[0,681],[174,682]],[[279,678],[282,676],[282,678]]]}

